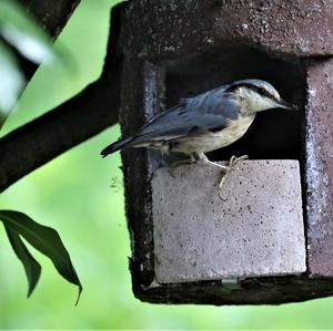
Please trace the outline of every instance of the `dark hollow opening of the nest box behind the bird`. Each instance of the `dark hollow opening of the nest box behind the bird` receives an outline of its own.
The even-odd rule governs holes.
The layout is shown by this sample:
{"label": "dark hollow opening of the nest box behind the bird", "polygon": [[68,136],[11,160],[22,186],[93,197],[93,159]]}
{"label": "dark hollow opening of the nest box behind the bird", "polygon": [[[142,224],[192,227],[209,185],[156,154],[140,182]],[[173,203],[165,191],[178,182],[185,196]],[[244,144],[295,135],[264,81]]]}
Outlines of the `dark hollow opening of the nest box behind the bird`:
{"label": "dark hollow opening of the nest box behind the bird", "polygon": [[169,61],[165,65],[167,107],[175,105],[181,97],[242,79],[270,82],[284,100],[300,110],[259,113],[240,141],[210,153],[210,159],[222,161],[244,154],[251,159],[301,159],[305,73],[295,59],[272,58],[249,45],[233,45]]}

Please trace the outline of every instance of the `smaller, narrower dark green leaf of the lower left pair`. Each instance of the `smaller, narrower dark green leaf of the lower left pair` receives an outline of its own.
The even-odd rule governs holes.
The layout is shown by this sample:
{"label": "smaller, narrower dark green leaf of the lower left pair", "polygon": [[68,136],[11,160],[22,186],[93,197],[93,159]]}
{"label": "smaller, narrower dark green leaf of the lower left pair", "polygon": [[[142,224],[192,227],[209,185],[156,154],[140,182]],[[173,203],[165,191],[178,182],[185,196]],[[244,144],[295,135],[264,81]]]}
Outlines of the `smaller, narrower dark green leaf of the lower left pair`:
{"label": "smaller, narrower dark green leaf of the lower left pair", "polygon": [[32,291],[34,290],[38,280],[40,278],[40,273],[41,273],[40,263],[30,254],[30,251],[28,250],[27,246],[24,245],[20,236],[13,230],[11,230],[10,228],[8,227],[4,228],[13,251],[16,252],[17,257],[21,260],[24,267],[27,279],[28,279],[27,297],[29,298]]}

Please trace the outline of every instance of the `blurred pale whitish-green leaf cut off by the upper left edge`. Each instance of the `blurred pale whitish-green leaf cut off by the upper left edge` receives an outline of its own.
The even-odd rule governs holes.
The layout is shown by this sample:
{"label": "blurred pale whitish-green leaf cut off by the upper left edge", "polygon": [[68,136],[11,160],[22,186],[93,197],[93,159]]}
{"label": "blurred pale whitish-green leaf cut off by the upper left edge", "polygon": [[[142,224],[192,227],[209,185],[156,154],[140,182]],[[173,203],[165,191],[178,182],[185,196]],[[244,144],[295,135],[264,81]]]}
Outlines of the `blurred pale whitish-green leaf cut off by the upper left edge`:
{"label": "blurred pale whitish-green leaf cut off by the upper left edge", "polygon": [[14,55],[0,41],[0,128],[16,105],[24,84]]}

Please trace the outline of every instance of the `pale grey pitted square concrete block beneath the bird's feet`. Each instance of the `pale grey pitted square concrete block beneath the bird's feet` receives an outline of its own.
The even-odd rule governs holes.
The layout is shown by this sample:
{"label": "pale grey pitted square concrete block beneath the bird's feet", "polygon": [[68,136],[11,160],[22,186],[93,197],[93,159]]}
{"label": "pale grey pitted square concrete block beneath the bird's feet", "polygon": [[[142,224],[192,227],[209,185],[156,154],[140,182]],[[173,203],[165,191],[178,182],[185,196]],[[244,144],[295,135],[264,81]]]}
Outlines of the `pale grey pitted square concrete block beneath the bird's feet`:
{"label": "pale grey pitted square concrete block beneath the bird's feet", "polygon": [[160,283],[297,275],[306,270],[297,161],[244,161],[229,174],[182,165],[152,178]]}

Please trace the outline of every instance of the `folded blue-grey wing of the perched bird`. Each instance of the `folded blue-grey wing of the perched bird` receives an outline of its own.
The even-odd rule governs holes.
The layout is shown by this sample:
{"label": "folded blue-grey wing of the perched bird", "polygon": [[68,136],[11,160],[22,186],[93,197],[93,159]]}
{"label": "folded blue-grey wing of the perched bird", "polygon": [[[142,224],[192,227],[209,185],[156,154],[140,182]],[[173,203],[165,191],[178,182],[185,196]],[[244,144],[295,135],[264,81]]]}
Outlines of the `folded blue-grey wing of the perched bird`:
{"label": "folded blue-grey wing of the perched bird", "polygon": [[238,116],[236,104],[225,101],[215,90],[192,99],[152,117],[134,136],[133,144],[170,141],[195,132],[218,131]]}

